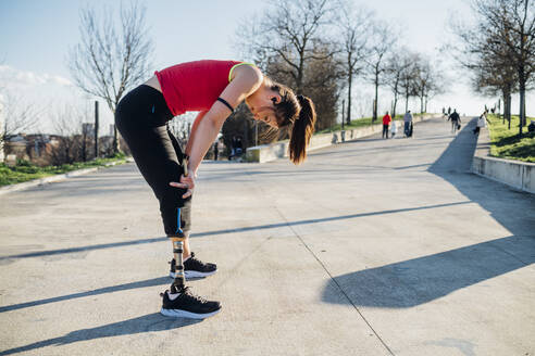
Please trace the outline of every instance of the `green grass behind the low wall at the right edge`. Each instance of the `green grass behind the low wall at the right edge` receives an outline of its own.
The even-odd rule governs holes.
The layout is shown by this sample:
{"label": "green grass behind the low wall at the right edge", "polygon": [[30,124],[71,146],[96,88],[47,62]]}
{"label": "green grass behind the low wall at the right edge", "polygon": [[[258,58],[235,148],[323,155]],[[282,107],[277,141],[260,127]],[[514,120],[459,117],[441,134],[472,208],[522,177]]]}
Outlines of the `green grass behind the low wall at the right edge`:
{"label": "green grass behind the low wall at the right edge", "polygon": [[[526,119],[527,124],[531,119]],[[492,156],[535,163],[535,134],[527,134],[527,127],[524,127],[519,140],[518,116],[511,117],[511,129],[498,115],[488,115],[488,120]]]}

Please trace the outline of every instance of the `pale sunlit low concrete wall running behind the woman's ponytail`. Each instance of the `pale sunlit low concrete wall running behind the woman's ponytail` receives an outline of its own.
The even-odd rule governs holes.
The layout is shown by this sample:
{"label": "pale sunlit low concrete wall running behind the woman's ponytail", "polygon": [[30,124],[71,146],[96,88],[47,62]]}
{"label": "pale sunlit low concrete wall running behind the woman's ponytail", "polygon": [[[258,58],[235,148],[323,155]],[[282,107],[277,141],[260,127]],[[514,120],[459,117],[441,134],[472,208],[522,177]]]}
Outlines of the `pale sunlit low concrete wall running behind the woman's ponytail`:
{"label": "pale sunlit low concrete wall running behind the woman's ponytail", "polygon": [[[424,116],[418,116],[414,117],[414,123],[422,122],[424,119],[430,119],[432,117],[440,117],[440,115],[424,115]],[[403,127],[402,123],[397,122],[398,124],[398,136],[403,135]],[[383,131],[383,125],[372,125],[372,126],[365,126],[365,127],[360,127],[356,128],[352,130],[346,130],[345,131],[345,141],[352,141],[357,140],[362,137],[371,136],[377,132]],[[322,149],[325,147],[328,147],[331,144],[339,143],[341,142],[341,131],[334,131],[331,134],[321,134],[321,135],[314,135],[310,139],[310,145],[307,149],[307,152],[314,151],[318,149]],[[288,140],[285,141],[278,141],[275,143],[271,144],[262,144],[262,145],[257,145],[252,148],[248,148],[246,151],[246,160],[248,162],[258,162],[258,163],[264,163],[264,162],[270,162],[270,161],[275,161],[277,158],[282,157],[287,157],[288,156]]]}

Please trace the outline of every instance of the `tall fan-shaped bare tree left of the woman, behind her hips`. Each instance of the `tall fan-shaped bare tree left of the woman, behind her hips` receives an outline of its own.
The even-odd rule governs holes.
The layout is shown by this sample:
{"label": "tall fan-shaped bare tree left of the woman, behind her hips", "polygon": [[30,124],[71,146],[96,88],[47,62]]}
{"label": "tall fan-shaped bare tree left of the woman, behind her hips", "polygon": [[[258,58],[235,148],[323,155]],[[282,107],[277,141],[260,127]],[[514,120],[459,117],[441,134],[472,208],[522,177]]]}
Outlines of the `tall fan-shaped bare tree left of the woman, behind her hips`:
{"label": "tall fan-shaped bare tree left of the woman, behind her hips", "polygon": [[[76,85],[85,92],[102,98],[115,109],[123,94],[149,73],[152,41],[145,24],[145,7],[130,2],[120,8],[120,24],[112,11],[92,8],[80,12],[80,42],[71,49],[69,65]],[[114,152],[120,151],[114,129]]]}

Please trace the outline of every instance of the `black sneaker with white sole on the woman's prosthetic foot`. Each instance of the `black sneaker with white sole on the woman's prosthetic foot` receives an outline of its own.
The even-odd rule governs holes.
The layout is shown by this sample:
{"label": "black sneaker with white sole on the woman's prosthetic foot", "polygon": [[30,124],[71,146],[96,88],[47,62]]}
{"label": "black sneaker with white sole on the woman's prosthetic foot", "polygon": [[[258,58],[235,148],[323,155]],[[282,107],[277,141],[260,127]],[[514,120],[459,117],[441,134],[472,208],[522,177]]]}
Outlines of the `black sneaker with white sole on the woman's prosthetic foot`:
{"label": "black sneaker with white sole on the woman's prosthetic foot", "polygon": [[[160,313],[167,317],[204,319],[221,312],[220,302],[207,301],[195,295],[189,287],[183,287],[178,295],[170,295],[170,291],[163,292],[163,305]],[[174,297],[172,300],[172,297]]]}

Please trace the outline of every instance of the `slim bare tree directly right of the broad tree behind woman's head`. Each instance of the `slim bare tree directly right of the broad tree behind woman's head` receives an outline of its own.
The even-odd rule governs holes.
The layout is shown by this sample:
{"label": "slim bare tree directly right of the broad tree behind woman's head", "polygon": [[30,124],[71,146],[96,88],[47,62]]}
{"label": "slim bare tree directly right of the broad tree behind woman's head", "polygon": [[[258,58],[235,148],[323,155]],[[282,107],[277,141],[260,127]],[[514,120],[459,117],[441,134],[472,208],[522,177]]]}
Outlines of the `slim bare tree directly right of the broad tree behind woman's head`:
{"label": "slim bare tree directly right of the broad tree behind woman's head", "polygon": [[[351,89],[354,76],[365,66],[368,38],[372,26],[372,12],[364,8],[354,8],[352,2],[340,0],[338,27],[340,48],[347,77],[347,124],[351,123]],[[344,119],[344,118],[343,118]]]}

